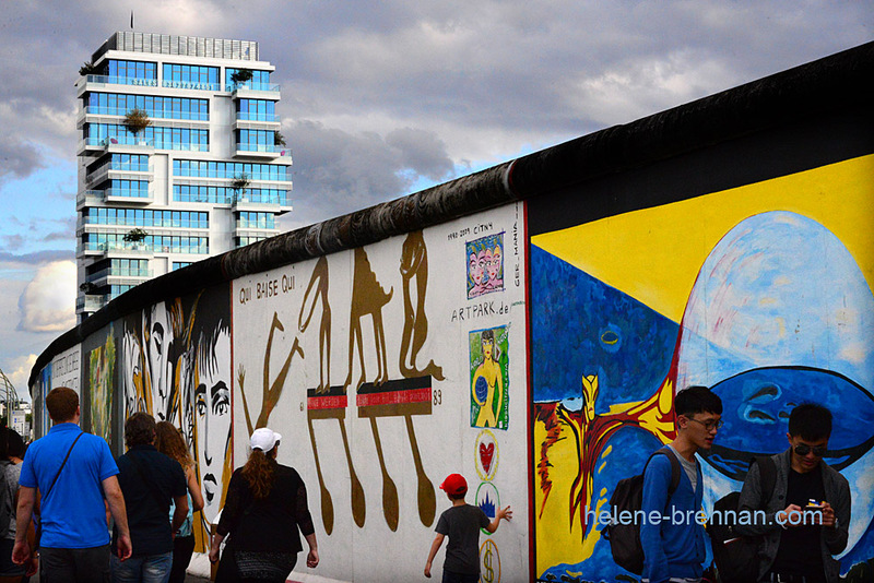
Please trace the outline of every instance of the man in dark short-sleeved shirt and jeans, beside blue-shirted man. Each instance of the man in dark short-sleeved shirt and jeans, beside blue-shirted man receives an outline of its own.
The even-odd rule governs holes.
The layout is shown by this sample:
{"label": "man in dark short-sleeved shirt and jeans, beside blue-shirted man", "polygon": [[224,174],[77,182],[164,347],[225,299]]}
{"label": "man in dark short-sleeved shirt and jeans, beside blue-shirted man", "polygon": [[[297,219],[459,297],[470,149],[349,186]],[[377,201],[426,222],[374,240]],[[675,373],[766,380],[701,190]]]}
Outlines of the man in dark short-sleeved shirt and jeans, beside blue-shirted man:
{"label": "man in dark short-sleeved shirt and jeans, beside blue-shirted man", "polygon": [[[166,581],[173,566],[173,533],[188,516],[188,486],[179,462],[155,449],[155,418],[134,413],[125,421],[128,453],[118,459],[118,483],[128,502],[134,544],[130,560],[113,557],[113,581]],[[176,503],[173,524],[167,520]],[[119,531],[114,533],[114,542]]]}

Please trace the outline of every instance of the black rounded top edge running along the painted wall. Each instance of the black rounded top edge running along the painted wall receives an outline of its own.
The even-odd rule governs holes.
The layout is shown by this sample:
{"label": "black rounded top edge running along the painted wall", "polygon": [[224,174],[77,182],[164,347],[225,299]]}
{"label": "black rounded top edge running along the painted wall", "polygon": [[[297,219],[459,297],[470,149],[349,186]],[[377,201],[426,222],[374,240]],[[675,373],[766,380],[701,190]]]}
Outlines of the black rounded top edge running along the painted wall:
{"label": "black rounded top edge running along the painted wall", "polygon": [[[55,340],[31,371],[145,306],[513,201],[529,234],[874,152],[874,43],[145,282]],[[874,177],[872,177],[874,179]],[[583,187],[584,188],[581,188]]]}

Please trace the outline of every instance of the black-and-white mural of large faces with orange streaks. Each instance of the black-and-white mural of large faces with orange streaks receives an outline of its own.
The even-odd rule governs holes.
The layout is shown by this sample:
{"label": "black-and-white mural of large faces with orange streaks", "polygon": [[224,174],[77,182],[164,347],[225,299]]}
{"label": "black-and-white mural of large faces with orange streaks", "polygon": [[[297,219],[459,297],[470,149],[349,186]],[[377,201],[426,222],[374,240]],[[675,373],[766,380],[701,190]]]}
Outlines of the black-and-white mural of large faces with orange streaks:
{"label": "black-and-white mural of large faces with orange streaks", "polygon": [[228,286],[157,302],[123,320],[125,416],[146,412],[182,431],[197,463],[204,508],[199,549],[221,510],[233,466]]}

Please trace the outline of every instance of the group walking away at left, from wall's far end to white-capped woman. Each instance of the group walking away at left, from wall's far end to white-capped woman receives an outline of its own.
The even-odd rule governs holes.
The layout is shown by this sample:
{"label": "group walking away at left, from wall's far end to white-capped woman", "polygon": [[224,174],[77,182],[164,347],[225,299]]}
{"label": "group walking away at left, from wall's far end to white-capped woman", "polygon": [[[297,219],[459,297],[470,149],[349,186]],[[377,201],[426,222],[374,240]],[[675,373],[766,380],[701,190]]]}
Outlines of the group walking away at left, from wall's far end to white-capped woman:
{"label": "group walking away at left, from wall's far end to white-capped woman", "polygon": [[[75,391],[52,389],[46,409],[54,425],[26,453],[17,433],[0,433],[0,583],[27,581],[37,569],[40,583],[185,581],[203,496],[181,432],[134,413],[125,421],[127,452],[114,460],[106,440],[79,427]],[[306,487],[276,462],[280,440],[256,430],[248,462],[231,478],[210,549],[218,561],[227,538],[220,583],[284,583],[303,549],[298,530],[307,566],[319,563]]]}

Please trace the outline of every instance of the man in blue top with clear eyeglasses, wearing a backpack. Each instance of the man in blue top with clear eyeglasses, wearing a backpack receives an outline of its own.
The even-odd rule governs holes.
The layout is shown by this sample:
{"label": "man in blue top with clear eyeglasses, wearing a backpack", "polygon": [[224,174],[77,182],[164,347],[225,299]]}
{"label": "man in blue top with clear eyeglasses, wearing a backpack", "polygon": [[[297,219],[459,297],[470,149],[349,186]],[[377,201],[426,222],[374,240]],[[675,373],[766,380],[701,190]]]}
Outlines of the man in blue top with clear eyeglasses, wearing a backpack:
{"label": "man in blue top with clear eyeglasses, wearing a backpack", "polygon": [[[680,463],[680,483],[669,496],[674,465],[668,455],[654,455],[643,472],[640,523],[643,581],[694,583],[701,581],[706,558],[701,500],[704,479],[695,457],[709,450],[722,427],[722,401],[706,386],[689,386],[674,398],[676,439],[669,454]],[[651,516],[662,516],[661,521]]]}

